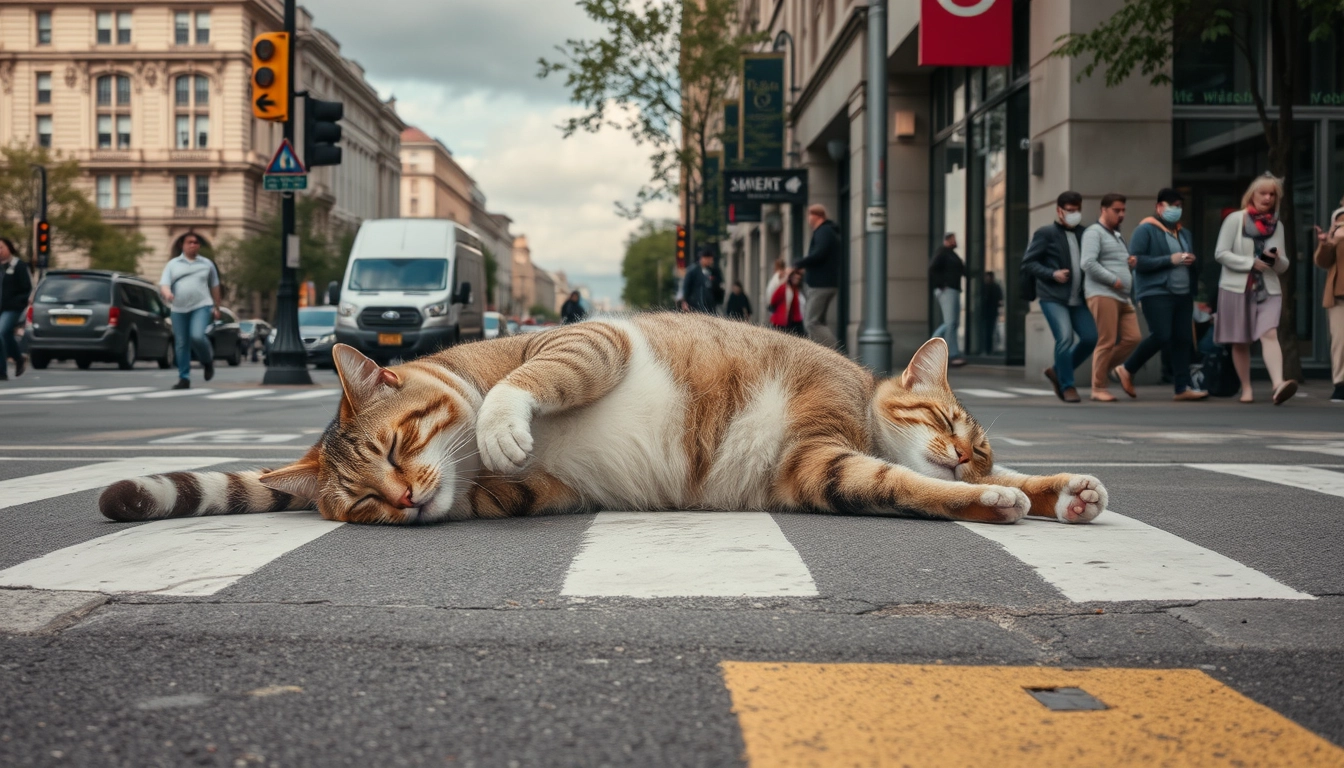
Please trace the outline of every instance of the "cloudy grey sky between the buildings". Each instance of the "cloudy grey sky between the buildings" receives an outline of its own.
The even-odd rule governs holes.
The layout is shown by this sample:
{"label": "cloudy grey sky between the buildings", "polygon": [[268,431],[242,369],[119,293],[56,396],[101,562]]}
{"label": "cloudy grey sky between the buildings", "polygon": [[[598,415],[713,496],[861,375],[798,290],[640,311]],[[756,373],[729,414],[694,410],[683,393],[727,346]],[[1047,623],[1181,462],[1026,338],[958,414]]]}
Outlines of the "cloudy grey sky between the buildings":
{"label": "cloudy grey sky between the buildings", "polygon": [[[648,151],[624,133],[562,139],[577,109],[563,77],[536,78],[538,56],[598,32],[573,0],[305,0],[314,23],[364,66],[402,120],[444,141],[513,218],[532,260],[571,284],[620,299],[621,256],[636,223],[616,214],[648,179]],[[673,204],[646,215],[673,218]]]}

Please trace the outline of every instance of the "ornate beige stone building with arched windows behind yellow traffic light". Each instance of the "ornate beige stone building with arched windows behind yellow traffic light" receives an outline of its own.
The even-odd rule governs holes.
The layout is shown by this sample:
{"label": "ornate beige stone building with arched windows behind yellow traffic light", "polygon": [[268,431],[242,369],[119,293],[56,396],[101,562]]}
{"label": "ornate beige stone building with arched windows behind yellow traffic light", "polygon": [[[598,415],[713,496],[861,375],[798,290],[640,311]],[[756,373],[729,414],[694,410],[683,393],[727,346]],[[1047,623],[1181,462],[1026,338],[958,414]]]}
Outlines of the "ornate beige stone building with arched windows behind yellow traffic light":
{"label": "ornate beige stone building with arched windows behind yellow traffic light", "polygon": [[[157,278],[188,230],[216,245],[262,231],[278,207],[262,171],[281,126],[251,114],[250,48],[280,28],[278,0],[5,3],[0,143],[78,160],[103,219],[144,234],[138,270]],[[296,89],[345,105],[343,163],[316,169],[305,194],[327,203],[333,233],[396,215],[402,121],[302,9],[296,69]]]}

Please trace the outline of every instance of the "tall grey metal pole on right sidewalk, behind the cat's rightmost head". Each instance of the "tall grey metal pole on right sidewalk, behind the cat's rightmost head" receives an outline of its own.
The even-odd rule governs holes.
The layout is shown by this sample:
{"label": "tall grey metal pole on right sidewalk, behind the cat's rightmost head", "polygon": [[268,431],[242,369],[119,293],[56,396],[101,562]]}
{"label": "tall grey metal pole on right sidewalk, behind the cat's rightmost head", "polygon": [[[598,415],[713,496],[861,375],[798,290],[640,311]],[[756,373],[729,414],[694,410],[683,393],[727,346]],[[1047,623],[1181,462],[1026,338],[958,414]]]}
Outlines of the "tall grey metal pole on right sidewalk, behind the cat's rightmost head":
{"label": "tall grey metal pole on right sidewalk, behind the cat's rightmost head", "polygon": [[868,0],[868,83],[864,93],[867,136],[864,165],[863,328],[859,362],[875,374],[891,371],[887,331],[887,0]]}

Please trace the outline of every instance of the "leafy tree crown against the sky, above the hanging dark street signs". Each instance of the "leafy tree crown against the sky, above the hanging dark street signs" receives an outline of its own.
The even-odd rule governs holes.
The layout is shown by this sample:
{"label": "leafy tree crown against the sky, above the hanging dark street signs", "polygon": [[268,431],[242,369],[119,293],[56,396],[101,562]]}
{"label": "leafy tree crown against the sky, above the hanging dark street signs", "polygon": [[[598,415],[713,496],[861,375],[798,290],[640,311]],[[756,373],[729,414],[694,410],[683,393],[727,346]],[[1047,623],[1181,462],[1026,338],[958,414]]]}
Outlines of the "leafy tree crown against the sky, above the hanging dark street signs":
{"label": "leafy tree crown against the sky, above the hanging dark street signs", "polygon": [[556,46],[560,61],[539,59],[538,77],[564,73],[570,100],[585,113],[566,120],[564,137],[602,128],[628,132],[652,148],[650,178],[632,204],[700,199],[700,161],[715,137],[714,120],[741,67],[742,51],[765,39],[739,34],[737,0],[578,0],[603,32],[593,40]]}

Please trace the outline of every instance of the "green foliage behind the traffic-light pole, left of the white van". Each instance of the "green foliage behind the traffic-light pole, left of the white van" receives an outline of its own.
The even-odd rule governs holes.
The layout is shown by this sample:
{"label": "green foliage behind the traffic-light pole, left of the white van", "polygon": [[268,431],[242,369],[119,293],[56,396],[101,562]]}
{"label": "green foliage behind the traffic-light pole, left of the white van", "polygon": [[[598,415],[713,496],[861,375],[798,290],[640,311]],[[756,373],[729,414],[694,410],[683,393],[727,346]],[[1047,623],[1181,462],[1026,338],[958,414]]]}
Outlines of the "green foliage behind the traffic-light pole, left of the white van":
{"label": "green foliage behind the traffic-light pole, left of the white van", "polygon": [[[352,230],[341,229],[328,238],[321,222],[328,208],[313,198],[300,198],[294,204],[294,234],[298,235],[298,278],[312,281],[319,292],[332,280],[345,274],[345,262],[355,245]],[[276,211],[266,229],[245,238],[226,238],[219,243],[219,269],[230,285],[251,293],[269,295],[280,286],[281,219]]]}

